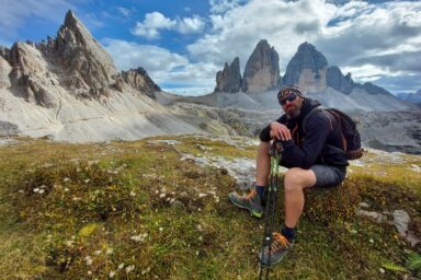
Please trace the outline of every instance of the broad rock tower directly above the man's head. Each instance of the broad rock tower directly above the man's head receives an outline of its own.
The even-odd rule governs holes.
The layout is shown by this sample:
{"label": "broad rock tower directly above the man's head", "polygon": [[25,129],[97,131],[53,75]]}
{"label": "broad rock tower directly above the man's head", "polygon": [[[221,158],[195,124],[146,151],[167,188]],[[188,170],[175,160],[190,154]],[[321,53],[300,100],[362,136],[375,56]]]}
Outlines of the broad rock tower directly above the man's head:
{"label": "broad rock tower directly above the man's head", "polygon": [[283,83],[298,85],[306,92],[321,92],[327,88],[328,60],[309,43],[303,43],[286,67]]}

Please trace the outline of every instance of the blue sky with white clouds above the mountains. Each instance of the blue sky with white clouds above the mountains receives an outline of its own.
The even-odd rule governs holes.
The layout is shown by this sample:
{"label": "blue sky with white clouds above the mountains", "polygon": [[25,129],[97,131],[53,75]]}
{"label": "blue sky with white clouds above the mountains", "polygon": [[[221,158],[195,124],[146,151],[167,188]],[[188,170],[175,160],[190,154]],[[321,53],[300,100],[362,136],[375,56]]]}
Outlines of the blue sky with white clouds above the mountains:
{"label": "blue sky with white clouds above the mountains", "polygon": [[164,90],[209,93],[226,61],[241,71],[264,38],[281,74],[309,42],[329,65],[392,93],[421,89],[421,1],[0,0],[0,45],[55,37],[71,9],[120,70],[144,67]]}

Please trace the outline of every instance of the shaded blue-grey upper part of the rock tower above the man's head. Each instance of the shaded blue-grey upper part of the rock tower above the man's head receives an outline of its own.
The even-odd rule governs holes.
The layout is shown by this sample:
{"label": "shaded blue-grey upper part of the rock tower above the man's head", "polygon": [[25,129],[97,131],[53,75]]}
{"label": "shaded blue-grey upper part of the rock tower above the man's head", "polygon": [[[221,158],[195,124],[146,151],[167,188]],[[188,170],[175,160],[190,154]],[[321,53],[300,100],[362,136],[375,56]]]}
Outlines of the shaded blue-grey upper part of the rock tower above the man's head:
{"label": "shaded blue-grey upper part of the rock tower above the man's head", "polygon": [[305,42],[286,67],[283,83],[286,85],[298,84],[303,70],[309,69],[315,80],[320,80],[320,71],[328,66],[326,57],[315,46]]}

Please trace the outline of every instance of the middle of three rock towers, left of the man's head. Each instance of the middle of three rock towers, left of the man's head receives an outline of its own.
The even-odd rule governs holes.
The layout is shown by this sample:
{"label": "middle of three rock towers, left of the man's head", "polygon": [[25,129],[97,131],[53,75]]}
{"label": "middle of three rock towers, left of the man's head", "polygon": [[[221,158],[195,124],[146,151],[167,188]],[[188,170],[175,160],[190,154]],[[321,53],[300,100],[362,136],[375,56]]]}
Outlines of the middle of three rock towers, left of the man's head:
{"label": "middle of three rock towers, left of the man's head", "polygon": [[274,47],[262,39],[246,63],[241,89],[243,92],[276,90],[280,83],[280,58]]}

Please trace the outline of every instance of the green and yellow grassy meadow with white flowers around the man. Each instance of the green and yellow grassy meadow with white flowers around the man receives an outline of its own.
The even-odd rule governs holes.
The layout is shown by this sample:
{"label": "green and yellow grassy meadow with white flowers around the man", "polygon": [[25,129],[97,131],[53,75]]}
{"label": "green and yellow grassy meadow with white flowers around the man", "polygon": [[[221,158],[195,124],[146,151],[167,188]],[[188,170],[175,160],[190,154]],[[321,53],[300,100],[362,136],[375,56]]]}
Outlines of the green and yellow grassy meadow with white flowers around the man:
{"label": "green and yellow grassy meadow with white flowers around the man", "polygon": [[[229,162],[254,159],[257,144],[169,136],[0,147],[1,279],[258,279],[264,219],[227,197]],[[421,236],[420,166],[421,156],[371,151],[339,188],[308,190],[295,246],[271,279],[421,277],[420,244],[390,222],[405,210]],[[357,215],[361,202],[389,221]]]}

